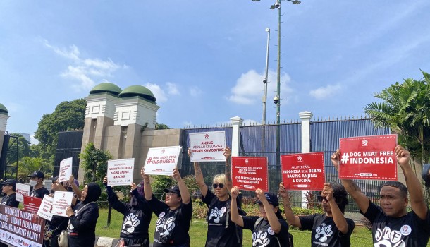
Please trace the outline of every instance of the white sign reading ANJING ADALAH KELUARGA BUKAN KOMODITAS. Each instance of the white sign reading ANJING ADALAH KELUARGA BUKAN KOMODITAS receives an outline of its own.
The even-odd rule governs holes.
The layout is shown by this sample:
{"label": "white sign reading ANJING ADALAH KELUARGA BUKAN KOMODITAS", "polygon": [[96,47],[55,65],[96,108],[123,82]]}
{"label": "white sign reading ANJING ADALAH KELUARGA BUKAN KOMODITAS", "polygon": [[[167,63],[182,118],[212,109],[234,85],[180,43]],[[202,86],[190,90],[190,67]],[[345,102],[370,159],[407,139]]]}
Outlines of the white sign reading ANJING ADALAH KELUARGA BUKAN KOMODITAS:
{"label": "white sign reading ANJING ADALAH KELUARGA BUKAN KOMODITAS", "polygon": [[226,131],[190,133],[191,162],[226,161]]}

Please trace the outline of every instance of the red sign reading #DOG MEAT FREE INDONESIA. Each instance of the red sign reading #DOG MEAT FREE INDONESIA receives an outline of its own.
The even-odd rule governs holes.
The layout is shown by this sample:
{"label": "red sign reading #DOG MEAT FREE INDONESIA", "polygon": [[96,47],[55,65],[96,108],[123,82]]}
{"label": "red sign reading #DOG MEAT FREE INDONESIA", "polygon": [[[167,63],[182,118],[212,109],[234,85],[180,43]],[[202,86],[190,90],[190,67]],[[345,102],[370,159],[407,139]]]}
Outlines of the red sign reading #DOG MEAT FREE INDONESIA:
{"label": "red sign reading #DOG MEAT FREE INDONESIA", "polygon": [[339,179],[397,181],[397,135],[340,138]]}

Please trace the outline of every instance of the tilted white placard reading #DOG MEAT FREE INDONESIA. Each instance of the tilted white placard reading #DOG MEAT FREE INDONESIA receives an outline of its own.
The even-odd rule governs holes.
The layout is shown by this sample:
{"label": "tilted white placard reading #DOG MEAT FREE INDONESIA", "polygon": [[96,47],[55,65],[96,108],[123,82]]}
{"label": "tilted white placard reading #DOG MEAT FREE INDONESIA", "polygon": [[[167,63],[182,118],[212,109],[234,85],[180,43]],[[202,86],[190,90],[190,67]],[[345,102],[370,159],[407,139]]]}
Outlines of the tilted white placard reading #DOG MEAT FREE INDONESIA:
{"label": "tilted white placard reading #DOG MEAT FREE INDONESIA", "polygon": [[145,159],[145,174],[171,176],[173,169],[177,167],[180,150],[180,146],[149,148]]}

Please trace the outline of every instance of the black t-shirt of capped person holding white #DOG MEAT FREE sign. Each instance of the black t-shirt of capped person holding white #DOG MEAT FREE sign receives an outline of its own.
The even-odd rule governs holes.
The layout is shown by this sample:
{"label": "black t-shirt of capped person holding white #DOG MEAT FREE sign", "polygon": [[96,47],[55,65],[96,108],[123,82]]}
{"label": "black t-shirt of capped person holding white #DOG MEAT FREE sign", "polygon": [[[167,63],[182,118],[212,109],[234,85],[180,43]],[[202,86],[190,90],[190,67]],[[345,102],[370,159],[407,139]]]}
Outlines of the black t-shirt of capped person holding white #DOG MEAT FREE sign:
{"label": "black t-shirt of capped person holding white #DOG MEAT FREE sign", "polygon": [[[154,247],[177,246],[184,244],[190,246],[190,230],[192,217],[192,203],[182,203],[176,210],[156,199],[154,196],[148,201],[154,214],[159,217],[156,220],[154,233]],[[165,242],[165,243],[163,243]]]}

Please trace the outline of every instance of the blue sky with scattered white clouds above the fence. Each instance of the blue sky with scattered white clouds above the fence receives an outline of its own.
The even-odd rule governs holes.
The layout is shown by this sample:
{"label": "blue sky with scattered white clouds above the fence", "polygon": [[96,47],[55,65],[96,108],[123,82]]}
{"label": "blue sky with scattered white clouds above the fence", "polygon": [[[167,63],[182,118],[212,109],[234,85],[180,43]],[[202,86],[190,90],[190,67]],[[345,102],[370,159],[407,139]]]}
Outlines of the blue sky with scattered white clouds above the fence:
{"label": "blue sky with scattered white clouds above the fence", "polygon": [[[430,73],[430,1],[281,1],[281,121],[364,116],[373,96]],[[9,133],[99,83],[152,90],[171,128],[276,121],[274,1],[0,1],[0,103]]]}

